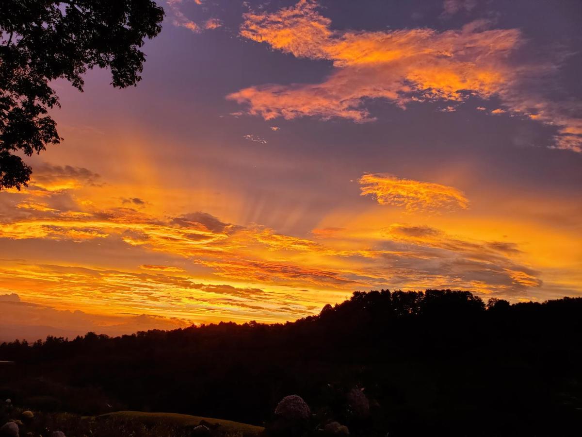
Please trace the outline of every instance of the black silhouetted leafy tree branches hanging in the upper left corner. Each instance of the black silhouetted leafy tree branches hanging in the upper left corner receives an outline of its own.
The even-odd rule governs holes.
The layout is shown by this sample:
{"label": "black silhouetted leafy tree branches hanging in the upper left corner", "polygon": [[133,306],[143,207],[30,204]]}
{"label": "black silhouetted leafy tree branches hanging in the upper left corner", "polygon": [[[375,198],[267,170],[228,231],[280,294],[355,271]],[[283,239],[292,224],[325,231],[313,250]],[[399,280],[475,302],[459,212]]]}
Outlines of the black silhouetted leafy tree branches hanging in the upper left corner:
{"label": "black silhouetted leafy tree branches hanging in the upper left corner", "polygon": [[144,38],[161,31],[152,0],[2,0],[0,8],[0,190],[20,189],[31,168],[15,154],[40,153],[62,138],[48,110],[59,107],[51,80],[83,91],[83,73],[111,69],[114,87],[136,85]]}

